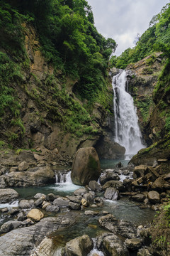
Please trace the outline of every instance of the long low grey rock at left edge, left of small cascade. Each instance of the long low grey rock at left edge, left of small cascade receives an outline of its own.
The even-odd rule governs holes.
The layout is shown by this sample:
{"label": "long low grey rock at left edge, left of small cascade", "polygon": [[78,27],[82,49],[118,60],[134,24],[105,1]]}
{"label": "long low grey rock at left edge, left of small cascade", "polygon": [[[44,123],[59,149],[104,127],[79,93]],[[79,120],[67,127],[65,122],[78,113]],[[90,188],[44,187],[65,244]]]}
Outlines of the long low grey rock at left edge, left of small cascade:
{"label": "long low grey rock at left edge, left of small cascade", "polygon": [[27,171],[15,171],[0,176],[4,187],[12,186],[42,186],[55,183],[55,173],[50,166],[30,168]]}

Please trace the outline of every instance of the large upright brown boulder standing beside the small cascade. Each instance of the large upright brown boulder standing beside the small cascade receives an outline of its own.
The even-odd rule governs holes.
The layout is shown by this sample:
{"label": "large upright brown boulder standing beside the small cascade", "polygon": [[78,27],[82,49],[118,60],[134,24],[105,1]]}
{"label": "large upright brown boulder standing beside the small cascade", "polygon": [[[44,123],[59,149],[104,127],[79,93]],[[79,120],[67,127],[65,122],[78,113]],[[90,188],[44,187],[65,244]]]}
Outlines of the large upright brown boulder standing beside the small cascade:
{"label": "large upright brown boulder standing beside the small cascade", "polygon": [[72,166],[72,182],[86,186],[89,181],[97,181],[100,174],[101,166],[96,149],[93,147],[79,149]]}

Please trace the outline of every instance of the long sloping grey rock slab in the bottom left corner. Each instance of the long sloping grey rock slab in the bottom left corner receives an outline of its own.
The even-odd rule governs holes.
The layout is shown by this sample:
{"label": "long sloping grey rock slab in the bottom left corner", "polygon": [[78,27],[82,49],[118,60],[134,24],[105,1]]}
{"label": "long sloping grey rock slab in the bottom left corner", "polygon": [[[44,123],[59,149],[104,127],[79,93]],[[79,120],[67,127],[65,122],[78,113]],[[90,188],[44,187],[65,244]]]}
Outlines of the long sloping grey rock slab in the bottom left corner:
{"label": "long sloping grey rock slab in the bottom left corner", "polygon": [[3,256],[27,256],[36,245],[49,233],[67,228],[74,223],[75,215],[72,213],[57,218],[47,217],[40,220],[35,225],[26,228],[18,228],[0,236],[0,255]]}

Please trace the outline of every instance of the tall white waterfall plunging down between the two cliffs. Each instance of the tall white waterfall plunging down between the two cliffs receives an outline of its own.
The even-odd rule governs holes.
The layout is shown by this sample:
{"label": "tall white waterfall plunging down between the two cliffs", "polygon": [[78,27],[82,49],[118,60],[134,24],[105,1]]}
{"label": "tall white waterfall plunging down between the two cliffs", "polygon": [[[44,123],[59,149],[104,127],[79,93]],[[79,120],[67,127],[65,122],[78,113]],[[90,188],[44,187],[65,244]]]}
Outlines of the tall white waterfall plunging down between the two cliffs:
{"label": "tall white waterfall plunging down between the two cliffs", "polygon": [[126,155],[137,154],[144,148],[142,134],[138,124],[136,107],[132,96],[127,92],[128,82],[125,70],[120,70],[113,77],[114,114],[115,114],[115,142],[126,149]]}

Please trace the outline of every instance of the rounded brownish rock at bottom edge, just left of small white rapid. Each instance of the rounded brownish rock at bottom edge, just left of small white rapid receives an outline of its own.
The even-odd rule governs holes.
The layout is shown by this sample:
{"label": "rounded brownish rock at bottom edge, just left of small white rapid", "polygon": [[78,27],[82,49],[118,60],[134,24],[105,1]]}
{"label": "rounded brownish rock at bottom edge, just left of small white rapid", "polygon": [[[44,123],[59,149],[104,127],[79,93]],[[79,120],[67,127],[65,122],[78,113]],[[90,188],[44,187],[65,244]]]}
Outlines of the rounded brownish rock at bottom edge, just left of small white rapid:
{"label": "rounded brownish rock at bottom edge, just left of small white rapid", "polygon": [[83,235],[67,242],[65,252],[67,256],[86,256],[93,247],[91,238],[88,235]]}

